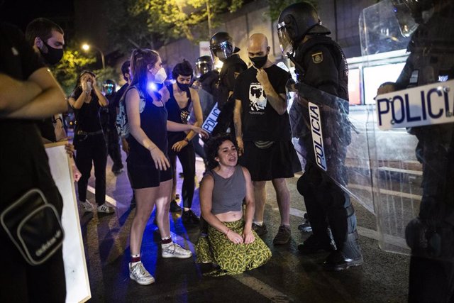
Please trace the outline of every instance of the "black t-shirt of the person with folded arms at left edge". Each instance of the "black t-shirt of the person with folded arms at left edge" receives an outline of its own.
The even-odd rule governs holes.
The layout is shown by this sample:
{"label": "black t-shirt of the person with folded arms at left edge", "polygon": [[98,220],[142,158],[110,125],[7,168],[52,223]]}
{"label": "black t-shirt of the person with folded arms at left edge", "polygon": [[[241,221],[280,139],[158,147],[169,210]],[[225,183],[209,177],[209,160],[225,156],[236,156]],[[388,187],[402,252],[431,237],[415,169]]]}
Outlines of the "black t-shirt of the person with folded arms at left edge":
{"label": "black t-shirt of the person with folded arms at left edge", "polygon": [[[44,67],[18,28],[0,23],[0,36],[2,74],[24,81]],[[35,121],[0,119],[0,142],[0,211],[31,188],[45,193],[55,188]],[[61,204],[53,199],[49,202],[61,210]]]}

